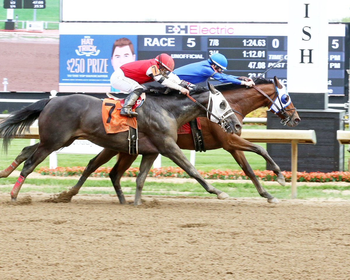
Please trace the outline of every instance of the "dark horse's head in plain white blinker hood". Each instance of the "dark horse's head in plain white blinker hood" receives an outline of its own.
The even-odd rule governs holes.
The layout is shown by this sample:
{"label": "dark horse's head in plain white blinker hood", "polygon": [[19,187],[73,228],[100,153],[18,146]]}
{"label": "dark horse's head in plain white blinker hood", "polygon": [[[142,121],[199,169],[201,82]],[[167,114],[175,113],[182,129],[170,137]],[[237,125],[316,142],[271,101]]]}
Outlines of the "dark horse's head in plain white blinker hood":
{"label": "dark horse's head in plain white blinker hood", "polygon": [[209,84],[209,82],[208,88],[210,93],[207,118],[214,123],[221,125],[225,132],[237,134],[241,130],[242,125],[237,119],[235,113],[232,111],[229,103],[222,93],[216,90],[214,86]]}

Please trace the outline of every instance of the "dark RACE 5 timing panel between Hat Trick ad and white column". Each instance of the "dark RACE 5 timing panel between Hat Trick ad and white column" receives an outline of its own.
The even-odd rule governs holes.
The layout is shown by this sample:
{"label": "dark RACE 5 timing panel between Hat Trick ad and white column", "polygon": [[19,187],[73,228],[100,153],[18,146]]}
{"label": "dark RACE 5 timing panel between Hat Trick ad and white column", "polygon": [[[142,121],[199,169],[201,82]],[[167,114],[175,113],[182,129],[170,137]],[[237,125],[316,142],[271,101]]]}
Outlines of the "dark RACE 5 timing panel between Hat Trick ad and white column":
{"label": "dark RACE 5 timing panel between Hat Trick ad and white column", "polygon": [[[175,68],[221,53],[228,59],[228,70],[224,73],[234,76],[261,76],[268,68],[284,58],[284,61],[276,65],[273,71],[268,71],[264,77],[277,76],[283,84],[287,82],[287,37],[140,35],[138,58],[148,59],[160,52],[168,52],[168,45],[172,45],[171,55],[175,61]],[[219,83],[213,78],[211,81],[214,84]]]}

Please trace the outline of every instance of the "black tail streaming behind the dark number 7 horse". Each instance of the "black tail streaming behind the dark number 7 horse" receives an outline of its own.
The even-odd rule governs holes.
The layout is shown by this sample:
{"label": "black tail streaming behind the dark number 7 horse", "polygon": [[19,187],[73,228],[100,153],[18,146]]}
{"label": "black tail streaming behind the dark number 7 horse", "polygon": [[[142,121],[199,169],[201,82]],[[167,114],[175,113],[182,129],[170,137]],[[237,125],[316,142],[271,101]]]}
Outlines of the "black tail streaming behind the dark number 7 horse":
{"label": "black tail streaming behind the dark number 7 horse", "polygon": [[0,138],[2,148],[7,154],[7,148],[16,135],[21,136],[23,130],[29,132],[29,127],[39,117],[41,111],[51,99],[41,99],[21,110],[13,112],[8,118],[0,123]]}

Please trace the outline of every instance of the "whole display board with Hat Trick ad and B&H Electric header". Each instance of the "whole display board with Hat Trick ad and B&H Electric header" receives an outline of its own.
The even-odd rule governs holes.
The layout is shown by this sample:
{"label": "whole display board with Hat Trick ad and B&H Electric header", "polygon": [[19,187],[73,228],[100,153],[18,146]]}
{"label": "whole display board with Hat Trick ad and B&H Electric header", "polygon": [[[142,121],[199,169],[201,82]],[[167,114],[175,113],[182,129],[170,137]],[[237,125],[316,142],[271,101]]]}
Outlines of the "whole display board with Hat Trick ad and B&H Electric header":
{"label": "whole display board with Hat Trick ad and B&H Electric header", "polygon": [[[59,91],[114,91],[109,78],[113,67],[121,64],[112,63],[112,46],[120,38],[130,40],[134,50],[129,60],[119,59],[124,63],[154,58],[165,52],[173,57],[175,68],[178,68],[219,52],[228,59],[228,70],[224,73],[252,77],[260,76],[283,58],[264,76],[268,79],[277,76],[288,86],[286,27],[283,23],[63,22],[59,27]],[[349,37],[345,36],[344,26],[329,25],[328,32],[328,91],[329,94],[344,95],[346,57],[349,61],[345,41]],[[119,54],[119,58],[125,55]],[[209,81],[219,83],[212,78]]]}

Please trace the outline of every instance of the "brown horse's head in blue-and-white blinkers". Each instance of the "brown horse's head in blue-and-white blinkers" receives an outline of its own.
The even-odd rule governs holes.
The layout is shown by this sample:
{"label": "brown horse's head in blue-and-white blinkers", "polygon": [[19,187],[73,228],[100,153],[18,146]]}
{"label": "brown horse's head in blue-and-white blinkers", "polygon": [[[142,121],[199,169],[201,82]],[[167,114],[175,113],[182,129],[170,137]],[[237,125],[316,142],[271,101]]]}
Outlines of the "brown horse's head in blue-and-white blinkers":
{"label": "brown horse's head in blue-and-white blinkers", "polygon": [[290,127],[297,126],[300,123],[300,118],[286,87],[280,84],[276,76],[274,76],[273,81],[275,93],[268,109],[281,118],[281,124]]}

